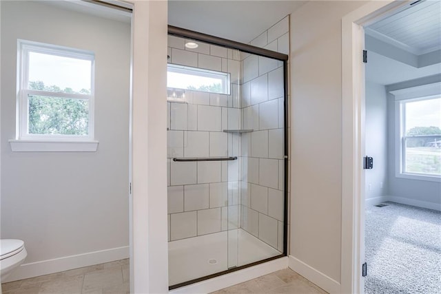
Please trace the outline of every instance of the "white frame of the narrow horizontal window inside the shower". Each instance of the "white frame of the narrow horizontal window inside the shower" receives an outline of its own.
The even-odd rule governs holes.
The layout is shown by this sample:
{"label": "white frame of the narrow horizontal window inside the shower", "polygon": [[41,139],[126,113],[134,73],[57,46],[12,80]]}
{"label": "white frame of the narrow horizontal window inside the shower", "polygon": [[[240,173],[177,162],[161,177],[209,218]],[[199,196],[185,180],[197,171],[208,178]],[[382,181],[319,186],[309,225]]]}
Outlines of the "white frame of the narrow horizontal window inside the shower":
{"label": "white frame of the narrow horizontal window inside the shower", "polygon": [[176,72],[179,74],[189,74],[192,76],[201,76],[201,77],[205,77],[205,78],[218,78],[222,81],[221,82],[222,89],[225,91],[222,93],[216,93],[216,92],[209,92],[209,91],[203,91],[203,90],[189,90],[189,89],[184,89],[184,88],[179,88],[179,87],[172,87],[172,86],[168,85],[168,83],[167,83],[167,87],[170,89],[175,88],[175,89],[183,89],[183,90],[189,90],[189,91],[208,92],[208,93],[220,94],[220,95],[230,95],[231,94],[231,91],[230,91],[231,76],[228,72],[218,72],[215,70],[205,70],[205,69],[198,68],[198,67],[177,65],[174,63],[167,64],[167,72]]}

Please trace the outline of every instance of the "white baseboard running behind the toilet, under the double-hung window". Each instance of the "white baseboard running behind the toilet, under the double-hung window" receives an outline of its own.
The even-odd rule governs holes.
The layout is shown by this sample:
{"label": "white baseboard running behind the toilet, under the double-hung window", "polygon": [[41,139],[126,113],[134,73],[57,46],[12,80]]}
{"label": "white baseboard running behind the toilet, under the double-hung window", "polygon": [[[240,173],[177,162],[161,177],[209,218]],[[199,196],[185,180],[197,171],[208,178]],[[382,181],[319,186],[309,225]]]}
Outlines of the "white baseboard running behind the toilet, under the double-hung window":
{"label": "white baseboard running behind the toilet, under the double-hung window", "polygon": [[70,269],[78,269],[83,266],[113,262],[114,260],[123,260],[129,258],[129,246],[123,246],[101,251],[88,252],[78,255],[65,256],[63,258],[54,258],[53,260],[42,260],[21,264],[5,281],[12,282],[27,279],[28,277],[37,277],[39,275],[48,275]]}

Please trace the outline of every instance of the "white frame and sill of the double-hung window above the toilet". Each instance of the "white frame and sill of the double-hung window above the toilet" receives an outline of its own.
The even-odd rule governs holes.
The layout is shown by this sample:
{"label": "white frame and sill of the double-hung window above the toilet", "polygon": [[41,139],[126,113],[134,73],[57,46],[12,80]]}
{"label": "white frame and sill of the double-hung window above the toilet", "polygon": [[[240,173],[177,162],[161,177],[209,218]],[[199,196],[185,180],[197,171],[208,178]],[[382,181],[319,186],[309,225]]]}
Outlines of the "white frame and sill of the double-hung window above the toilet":
{"label": "white frame and sill of the double-hung window above the toilet", "polygon": [[[90,94],[70,94],[28,89],[30,52],[91,61]],[[94,140],[94,53],[19,39],[17,40],[17,57],[17,125],[16,138],[10,140],[12,151],[96,151],[98,141]],[[88,100],[88,134],[29,134],[28,95]]]}

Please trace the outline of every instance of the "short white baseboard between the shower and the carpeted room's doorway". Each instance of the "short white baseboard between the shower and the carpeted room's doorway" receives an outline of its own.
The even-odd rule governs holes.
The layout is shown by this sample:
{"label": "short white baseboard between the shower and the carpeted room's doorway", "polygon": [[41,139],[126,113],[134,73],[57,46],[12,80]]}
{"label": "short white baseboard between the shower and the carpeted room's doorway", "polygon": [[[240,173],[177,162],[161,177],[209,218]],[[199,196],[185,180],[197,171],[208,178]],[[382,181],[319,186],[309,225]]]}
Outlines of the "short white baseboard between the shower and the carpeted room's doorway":
{"label": "short white baseboard between the shower and the carpeted room's doorway", "polygon": [[313,282],[327,293],[340,293],[341,285],[336,280],[331,279],[324,273],[317,271],[305,262],[294,258],[294,256],[289,255],[289,269],[292,269],[299,275],[306,277],[309,281]]}

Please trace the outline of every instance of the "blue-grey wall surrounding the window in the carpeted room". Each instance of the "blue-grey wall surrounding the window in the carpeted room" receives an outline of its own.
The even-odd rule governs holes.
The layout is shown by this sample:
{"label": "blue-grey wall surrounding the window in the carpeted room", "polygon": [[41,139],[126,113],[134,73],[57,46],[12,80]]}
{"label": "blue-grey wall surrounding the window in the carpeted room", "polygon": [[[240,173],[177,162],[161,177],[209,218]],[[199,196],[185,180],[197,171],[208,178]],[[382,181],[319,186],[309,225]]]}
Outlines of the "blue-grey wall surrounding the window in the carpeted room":
{"label": "blue-grey wall surrounding the window in the carpeted room", "polygon": [[[416,87],[418,85],[427,85],[441,81],[441,74],[435,76],[427,76],[411,81],[388,85],[387,92],[408,87]],[[388,94],[388,129],[389,154],[395,154],[395,99],[392,94]],[[427,180],[411,180],[407,178],[396,177],[396,158],[389,156],[388,160],[388,178],[389,178],[389,194],[394,201],[416,206],[431,207],[440,209],[441,204],[441,182],[431,182]]]}

